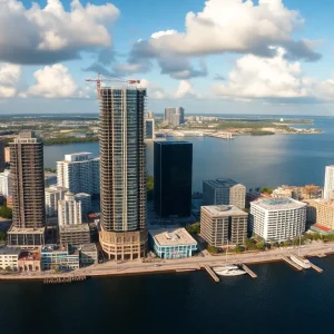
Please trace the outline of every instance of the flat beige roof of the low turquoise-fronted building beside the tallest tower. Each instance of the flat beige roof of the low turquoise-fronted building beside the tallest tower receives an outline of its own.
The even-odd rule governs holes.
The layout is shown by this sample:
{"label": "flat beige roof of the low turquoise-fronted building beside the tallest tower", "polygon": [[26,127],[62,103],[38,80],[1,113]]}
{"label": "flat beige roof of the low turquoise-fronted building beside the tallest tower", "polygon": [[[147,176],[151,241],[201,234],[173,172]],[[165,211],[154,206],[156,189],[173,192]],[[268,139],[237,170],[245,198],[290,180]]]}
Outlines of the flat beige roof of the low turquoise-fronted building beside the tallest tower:
{"label": "flat beige roof of the low turquoise-fronted building beside the tallest tower", "polygon": [[148,233],[155,243],[160,246],[197,245],[197,242],[183,227],[176,228],[153,228]]}

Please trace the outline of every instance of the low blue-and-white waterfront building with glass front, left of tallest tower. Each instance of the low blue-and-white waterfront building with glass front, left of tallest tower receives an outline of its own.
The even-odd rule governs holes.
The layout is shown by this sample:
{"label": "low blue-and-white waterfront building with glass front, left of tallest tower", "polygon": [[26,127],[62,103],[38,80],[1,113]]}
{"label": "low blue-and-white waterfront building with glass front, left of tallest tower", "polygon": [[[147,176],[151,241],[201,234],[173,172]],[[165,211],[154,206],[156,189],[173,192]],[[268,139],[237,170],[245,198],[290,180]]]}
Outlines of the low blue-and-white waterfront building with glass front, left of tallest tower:
{"label": "low blue-and-white waterfront building with glass front, left of tallest tower", "polygon": [[79,268],[79,252],[69,245],[46,245],[41,248],[41,269],[75,271]]}

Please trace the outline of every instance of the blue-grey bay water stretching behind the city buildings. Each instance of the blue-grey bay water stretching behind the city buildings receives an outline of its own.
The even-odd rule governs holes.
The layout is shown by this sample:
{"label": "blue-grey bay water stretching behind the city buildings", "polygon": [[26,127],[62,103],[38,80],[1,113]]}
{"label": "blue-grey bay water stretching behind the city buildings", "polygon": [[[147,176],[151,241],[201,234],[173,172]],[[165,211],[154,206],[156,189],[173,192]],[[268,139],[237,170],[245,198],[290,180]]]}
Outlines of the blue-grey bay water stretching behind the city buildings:
{"label": "blue-grey bay water stretching behind the city buildings", "polygon": [[[322,135],[240,136],[234,140],[185,138],[194,144],[193,190],[202,181],[235,178],[247,188],[324,183],[326,165],[334,163],[334,118],[313,117]],[[45,148],[45,166],[56,167],[65,154],[88,150],[99,155],[98,143],[56,145]],[[153,143],[147,144],[147,169],[153,175]]]}

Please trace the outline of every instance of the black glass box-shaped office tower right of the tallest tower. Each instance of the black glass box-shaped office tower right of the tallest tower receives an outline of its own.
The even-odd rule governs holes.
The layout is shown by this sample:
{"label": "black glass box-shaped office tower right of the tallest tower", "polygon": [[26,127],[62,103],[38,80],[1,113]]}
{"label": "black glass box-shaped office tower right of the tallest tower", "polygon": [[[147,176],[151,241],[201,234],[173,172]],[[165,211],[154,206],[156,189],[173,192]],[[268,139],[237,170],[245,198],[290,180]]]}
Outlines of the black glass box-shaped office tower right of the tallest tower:
{"label": "black glass box-shaped office tower right of the tallest tower", "polygon": [[193,144],[156,141],[154,154],[156,214],[161,218],[190,216]]}

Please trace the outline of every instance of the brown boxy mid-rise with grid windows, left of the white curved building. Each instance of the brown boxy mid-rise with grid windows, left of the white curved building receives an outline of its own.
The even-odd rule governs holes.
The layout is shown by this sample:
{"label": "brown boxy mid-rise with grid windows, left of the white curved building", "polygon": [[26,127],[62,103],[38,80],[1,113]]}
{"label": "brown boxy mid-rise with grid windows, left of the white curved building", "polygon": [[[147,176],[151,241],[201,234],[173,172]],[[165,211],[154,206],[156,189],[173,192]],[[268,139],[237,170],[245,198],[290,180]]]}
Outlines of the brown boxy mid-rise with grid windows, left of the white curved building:
{"label": "brown boxy mid-rise with grid windows, left of the white curved building", "polygon": [[200,236],[212,246],[240,245],[247,237],[248,214],[234,205],[200,208]]}

